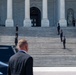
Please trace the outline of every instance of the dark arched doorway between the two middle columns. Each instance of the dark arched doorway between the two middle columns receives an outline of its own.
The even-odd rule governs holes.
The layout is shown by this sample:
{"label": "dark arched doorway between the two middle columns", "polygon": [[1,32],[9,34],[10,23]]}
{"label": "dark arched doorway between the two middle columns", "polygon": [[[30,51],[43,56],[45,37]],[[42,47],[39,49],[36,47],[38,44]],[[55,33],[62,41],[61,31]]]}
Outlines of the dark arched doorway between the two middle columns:
{"label": "dark arched doorway between the two middle columns", "polygon": [[36,7],[30,8],[30,19],[32,27],[40,27],[41,26],[41,12]]}

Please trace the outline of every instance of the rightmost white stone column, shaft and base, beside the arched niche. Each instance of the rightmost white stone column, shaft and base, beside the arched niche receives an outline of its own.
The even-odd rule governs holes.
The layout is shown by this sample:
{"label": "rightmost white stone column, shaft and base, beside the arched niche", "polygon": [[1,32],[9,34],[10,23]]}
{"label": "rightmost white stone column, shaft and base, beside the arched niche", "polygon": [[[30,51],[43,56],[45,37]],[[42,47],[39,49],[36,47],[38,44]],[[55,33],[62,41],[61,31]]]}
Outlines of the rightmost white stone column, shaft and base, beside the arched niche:
{"label": "rightmost white stone column, shaft and base, beside the arched niche", "polygon": [[66,27],[67,22],[65,19],[65,0],[58,0],[59,23],[61,27]]}

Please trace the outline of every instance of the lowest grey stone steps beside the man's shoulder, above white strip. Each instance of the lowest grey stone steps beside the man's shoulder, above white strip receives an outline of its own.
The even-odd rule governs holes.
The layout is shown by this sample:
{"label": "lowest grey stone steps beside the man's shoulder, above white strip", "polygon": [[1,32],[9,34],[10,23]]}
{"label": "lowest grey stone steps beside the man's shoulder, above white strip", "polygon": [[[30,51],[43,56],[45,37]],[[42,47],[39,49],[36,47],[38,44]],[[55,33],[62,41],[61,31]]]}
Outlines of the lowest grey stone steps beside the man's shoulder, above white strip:
{"label": "lowest grey stone steps beside the man's shoulder, above white strip", "polygon": [[35,67],[76,67],[76,55],[34,55]]}

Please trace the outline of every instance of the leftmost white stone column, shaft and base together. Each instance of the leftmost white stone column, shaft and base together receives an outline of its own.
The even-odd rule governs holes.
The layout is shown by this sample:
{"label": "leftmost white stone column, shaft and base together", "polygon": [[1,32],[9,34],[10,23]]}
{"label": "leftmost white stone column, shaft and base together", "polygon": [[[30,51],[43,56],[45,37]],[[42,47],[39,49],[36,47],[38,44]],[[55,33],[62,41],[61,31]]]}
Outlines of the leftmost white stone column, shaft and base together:
{"label": "leftmost white stone column, shaft and base together", "polygon": [[14,26],[14,22],[12,19],[12,0],[7,0],[7,19],[5,25],[6,27]]}

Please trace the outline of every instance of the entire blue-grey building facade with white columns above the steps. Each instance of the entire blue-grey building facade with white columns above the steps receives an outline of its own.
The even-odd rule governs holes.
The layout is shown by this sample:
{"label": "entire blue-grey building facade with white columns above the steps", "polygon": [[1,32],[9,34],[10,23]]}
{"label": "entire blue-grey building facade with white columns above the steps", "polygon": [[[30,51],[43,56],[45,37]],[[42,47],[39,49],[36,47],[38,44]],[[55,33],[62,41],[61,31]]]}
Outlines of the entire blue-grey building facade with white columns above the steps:
{"label": "entire blue-grey building facade with white columns above the steps", "polygon": [[74,26],[76,0],[0,0],[0,25]]}

